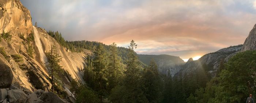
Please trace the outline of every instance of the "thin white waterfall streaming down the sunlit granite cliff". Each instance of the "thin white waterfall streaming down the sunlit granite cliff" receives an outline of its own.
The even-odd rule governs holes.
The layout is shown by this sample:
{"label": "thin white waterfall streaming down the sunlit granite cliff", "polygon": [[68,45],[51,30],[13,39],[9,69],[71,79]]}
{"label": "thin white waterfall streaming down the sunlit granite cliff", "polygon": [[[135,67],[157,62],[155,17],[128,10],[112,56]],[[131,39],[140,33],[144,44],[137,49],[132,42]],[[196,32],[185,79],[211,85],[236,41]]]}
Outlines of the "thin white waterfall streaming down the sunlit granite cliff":
{"label": "thin white waterfall streaming down the sunlit granite cliff", "polygon": [[45,55],[45,53],[44,53],[44,49],[43,49],[43,46],[42,46],[42,42],[40,41],[40,38],[39,38],[37,28],[36,28],[35,26],[33,26],[33,30],[34,30],[34,37],[35,37],[35,45],[36,45],[37,48],[38,48],[41,61],[42,61],[43,63],[46,63],[46,62],[47,62],[47,58],[46,58],[46,55]]}

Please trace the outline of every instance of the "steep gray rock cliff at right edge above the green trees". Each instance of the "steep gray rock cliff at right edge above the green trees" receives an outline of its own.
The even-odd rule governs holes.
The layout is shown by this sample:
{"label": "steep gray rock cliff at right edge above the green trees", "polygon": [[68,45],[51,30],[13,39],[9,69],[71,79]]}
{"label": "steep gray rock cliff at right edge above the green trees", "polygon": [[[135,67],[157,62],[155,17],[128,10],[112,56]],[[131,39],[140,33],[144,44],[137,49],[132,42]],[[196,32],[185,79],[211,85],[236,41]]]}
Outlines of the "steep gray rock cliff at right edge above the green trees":
{"label": "steep gray rock cliff at right edge above the green trees", "polygon": [[242,47],[241,52],[246,50],[256,50],[256,24],[244,41],[244,46]]}

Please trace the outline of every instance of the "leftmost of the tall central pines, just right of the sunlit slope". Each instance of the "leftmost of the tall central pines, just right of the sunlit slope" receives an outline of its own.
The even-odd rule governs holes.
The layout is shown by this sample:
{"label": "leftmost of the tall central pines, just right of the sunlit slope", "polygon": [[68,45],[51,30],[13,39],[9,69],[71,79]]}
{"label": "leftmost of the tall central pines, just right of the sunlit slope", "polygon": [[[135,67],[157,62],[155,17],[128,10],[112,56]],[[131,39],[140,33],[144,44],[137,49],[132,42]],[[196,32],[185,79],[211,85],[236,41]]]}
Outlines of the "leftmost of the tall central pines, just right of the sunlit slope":
{"label": "leftmost of the tall central pines, just right of the sunlit slope", "polygon": [[106,71],[106,55],[105,49],[102,45],[98,45],[97,49],[94,51],[94,62],[93,71],[95,72],[95,82],[98,84],[95,90],[98,91],[100,99],[102,102],[102,96],[105,94],[106,86],[108,85],[107,71]]}

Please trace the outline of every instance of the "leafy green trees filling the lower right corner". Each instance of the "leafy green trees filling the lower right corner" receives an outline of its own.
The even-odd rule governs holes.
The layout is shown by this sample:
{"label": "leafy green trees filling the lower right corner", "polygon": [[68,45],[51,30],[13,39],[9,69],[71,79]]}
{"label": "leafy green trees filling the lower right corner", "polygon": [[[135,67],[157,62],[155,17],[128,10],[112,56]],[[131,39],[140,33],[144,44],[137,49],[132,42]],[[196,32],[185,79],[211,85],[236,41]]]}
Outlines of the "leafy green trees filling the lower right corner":
{"label": "leafy green trees filling the lower right corner", "polygon": [[225,63],[218,77],[212,78],[205,88],[191,94],[188,102],[241,103],[249,94],[255,94],[256,51],[244,51]]}

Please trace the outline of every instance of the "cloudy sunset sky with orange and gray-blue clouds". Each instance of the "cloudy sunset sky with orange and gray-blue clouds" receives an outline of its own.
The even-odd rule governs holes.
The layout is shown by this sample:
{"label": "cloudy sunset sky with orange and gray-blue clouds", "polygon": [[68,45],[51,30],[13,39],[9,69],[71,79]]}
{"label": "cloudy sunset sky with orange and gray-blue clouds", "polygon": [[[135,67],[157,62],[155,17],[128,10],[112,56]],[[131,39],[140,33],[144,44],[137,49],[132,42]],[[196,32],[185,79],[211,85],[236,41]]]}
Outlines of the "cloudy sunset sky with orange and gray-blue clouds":
{"label": "cloudy sunset sky with orange and gray-blue clouds", "polygon": [[21,0],[32,21],[68,41],[116,42],[138,54],[187,61],[243,44],[256,23],[255,0]]}

